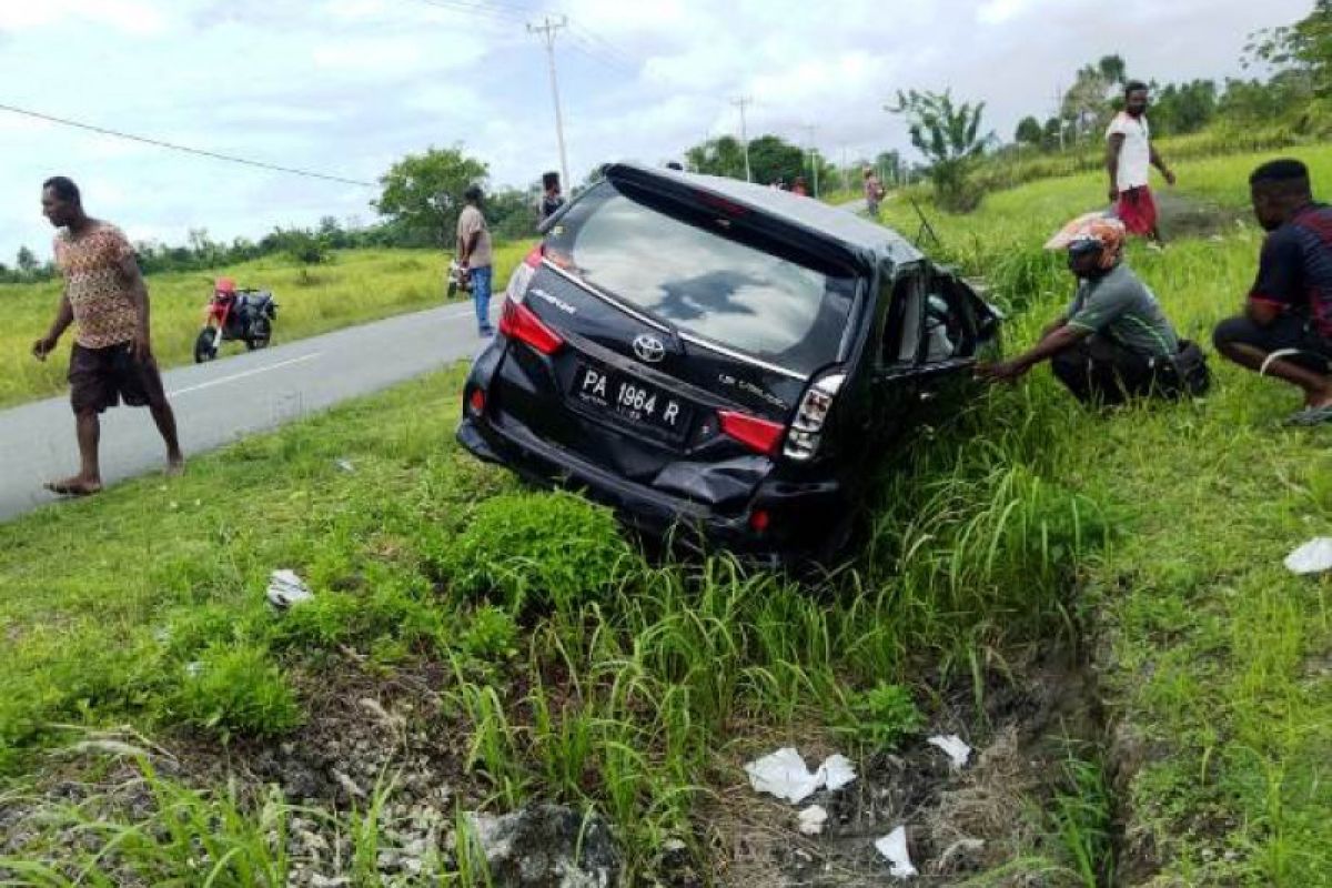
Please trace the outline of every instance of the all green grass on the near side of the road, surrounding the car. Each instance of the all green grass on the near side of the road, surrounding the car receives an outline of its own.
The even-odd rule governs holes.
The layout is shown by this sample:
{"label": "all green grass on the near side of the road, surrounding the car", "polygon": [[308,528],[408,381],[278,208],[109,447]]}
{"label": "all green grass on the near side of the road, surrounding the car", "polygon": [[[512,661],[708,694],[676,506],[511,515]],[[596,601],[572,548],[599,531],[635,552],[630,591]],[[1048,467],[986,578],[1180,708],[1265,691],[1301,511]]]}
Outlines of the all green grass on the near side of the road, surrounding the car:
{"label": "all green grass on the near side of the road, surrounding the car", "polygon": [[[1256,161],[1183,164],[1183,186]],[[950,258],[1014,312],[1010,347],[1071,289],[1040,242],[1100,192],[1098,176],[1039,182],[935,220]],[[902,209],[884,214],[914,230]],[[1219,241],[1131,250],[1203,341],[1256,264],[1259,232],[1227,225]],[[1104,415],[1046,370],[978,398],[884,467],[863,549],[821,588],[723,556],[649,564],[601,510],[523,491],[460,453],[461,374],[428,377],[196,459],[184,478],[0,526],[0,770],[27,791],[47,750],[120,724],[186,747],[281,735],[317,718],[310,691],[349,670],[429,663],[445,706],[421,727],[462,732],[460,766],[493,807],[595,807],[647,879],[669,839],[706,859],[706,812],[774,739],[882,752],[918,715],[934,724],[944,694],[970,690],[980,711],[1024,654],[1086,643],[1124,748],[1079,750],[1048,775],[1023,815],[1044,839],[991,884],[1123,872],[1112,809],[1128,825],[1120,856],[1154,848],[1180,884],[1328,884],[1328,584],[1280,559],[1332,518],[1332,433],[1281,427],[1295,393],[1213,370],[1205,401]],[[272,614],[274,567],[296,568],[314,600]],[[1136,767],[1111,797],[1116,756]],[[209,812],[193,823],[232,824],[218,853],[281,864],[253,837],[280,808],[218,788],[170,799]],[[87,816],[108,836],[127,825]],[[135,824],[152,841],[133,844],[131,869],[188,883],[197,839],[170,839],[169,824],[164,837],[160,816]],[[374,807],[340,824],[373,859]],[[116,881],[59,836],[39,832],[25,860],[91,863]],[[468,875],[473,857],[440,877],[482,879]]]}

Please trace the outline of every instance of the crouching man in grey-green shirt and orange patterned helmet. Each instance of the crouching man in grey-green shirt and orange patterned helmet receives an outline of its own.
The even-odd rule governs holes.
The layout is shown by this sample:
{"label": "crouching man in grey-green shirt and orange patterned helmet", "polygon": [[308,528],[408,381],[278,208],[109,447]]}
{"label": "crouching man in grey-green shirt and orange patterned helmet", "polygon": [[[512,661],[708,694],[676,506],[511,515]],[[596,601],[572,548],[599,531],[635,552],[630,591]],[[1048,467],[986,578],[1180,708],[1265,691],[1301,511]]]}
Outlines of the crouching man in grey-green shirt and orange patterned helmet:
{"label": "crouching man in grey-green shirt and orange patterned helmet", "polygon": [[1180,347],[1152,292],[1124,264],[1124,225],[1095,214],[1074,220],[1046,244],[1068,252],[1078,289],[1068,310],[1030,350],[978,375],[1015,382],[1044,359],[1079,401],[1120,403],[1131,395],[1200,394],[1207,365],[1192,343]]}

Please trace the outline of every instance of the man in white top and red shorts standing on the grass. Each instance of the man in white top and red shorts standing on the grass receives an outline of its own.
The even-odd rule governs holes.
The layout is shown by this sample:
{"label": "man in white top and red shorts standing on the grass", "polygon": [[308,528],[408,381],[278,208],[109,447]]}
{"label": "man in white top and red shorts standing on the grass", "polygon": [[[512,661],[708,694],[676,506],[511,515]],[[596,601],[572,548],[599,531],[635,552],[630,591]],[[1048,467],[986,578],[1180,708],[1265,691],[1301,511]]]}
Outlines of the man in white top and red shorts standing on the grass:
{"label": "man in white top and red shorts standing on the grass", "polygon": [[1175,173],[1156,153],[1147,124],[1147,84],[1132,80],[1124,87],[1124,111],[1115,114],[1106,130],[1106,169],[1110,173],[1110,202],[1130,234],[1162,240],[1156,224],[1156,201],[1150,188],[1155,166],[1171,185]]}

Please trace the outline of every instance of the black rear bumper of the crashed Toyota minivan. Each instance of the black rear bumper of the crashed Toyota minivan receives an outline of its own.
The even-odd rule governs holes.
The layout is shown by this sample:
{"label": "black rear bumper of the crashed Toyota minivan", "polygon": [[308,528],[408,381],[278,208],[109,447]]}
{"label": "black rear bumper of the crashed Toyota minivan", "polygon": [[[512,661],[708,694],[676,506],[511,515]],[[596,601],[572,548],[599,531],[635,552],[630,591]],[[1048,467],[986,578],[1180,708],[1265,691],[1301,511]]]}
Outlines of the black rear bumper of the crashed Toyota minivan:
{"label": "black rear bumper of the crashed Toyota minivan", "polygon": [[[829,531],[850,515],[838,481],[765,479],[749,506],[731,515],[606,471],[514,422],[500,429],[485,417],[464,415],[456,437],[477,458],[535,483],[579,490],[614,509],[625,523],[654,537],[693,530],[737,553],[786,558],[822,553]],[[765,527],[755,526],[755,513],[766,513]]]}

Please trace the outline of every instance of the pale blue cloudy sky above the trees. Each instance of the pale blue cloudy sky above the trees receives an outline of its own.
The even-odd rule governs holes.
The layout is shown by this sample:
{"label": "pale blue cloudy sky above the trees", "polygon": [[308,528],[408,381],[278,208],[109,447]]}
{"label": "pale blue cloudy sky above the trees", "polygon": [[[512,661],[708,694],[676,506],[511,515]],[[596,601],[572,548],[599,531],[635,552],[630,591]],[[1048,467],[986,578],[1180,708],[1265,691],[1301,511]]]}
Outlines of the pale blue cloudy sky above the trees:
{"label": "pale blue cloudy sky above the trees", "polygon": [[[368,224],[409,153],[457,146],[494,186],[558,169],[547,17],[570,174],[665,162],[711,136],[898,148],[898,89],[984,101],[1010,138],[1074,72],[1118,52],[1132,77],[1240,76],[1251,32],[1312,0],[0,0],[0,105],[368,185],[226,164],[0,111],[0,262],[51,256],[41,181],[136,241]],[[814,129],[809,129],[813,126]]]}

